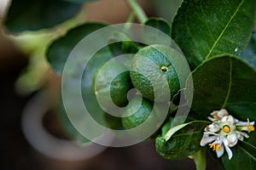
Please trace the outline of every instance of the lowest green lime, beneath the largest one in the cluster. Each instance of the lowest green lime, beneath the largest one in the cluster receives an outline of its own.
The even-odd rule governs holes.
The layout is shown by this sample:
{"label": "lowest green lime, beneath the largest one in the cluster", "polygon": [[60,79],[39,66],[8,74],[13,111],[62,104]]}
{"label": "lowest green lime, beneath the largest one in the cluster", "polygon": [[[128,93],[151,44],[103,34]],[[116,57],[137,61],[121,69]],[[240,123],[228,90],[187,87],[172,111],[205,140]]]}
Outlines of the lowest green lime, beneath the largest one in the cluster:
{"label": "lowest green lime, beneath the largest one in the cluster", "polygon": [[[157,126],[157,116],[152,116],[153,106],[147,99],[140,99],[135,97],[131,99],[129,105],[125,108],[124,116],[122,117],[122,124],[125,129],[137,127],[147,119],[150,118],[150,122],[147,122],[148,126]],[[157,110],[157,115],[160,115]],[[131,116],[127,116],[131,115]],[[144,129],[145,130],[145,129]],[[147,130],[147,128],[146,128]]]}

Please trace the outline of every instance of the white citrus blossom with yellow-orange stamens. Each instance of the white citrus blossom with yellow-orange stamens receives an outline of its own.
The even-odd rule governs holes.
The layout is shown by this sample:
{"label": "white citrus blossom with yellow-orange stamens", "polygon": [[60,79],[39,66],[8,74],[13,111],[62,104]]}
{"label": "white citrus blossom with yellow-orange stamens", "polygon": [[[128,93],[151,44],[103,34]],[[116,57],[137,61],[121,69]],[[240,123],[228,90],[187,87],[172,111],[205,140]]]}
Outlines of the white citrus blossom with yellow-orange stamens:
{"label": "white citrus blossom with yellow-orange stamens", "polygon": [[212,111],[208,119],[212,121],[212,124],[205,127],[200,144],[201,146],[209,144],[210,148],[216,151],[218,157],[223,156],[224,150],[226,150],[229,159],[231,159],[233,154],[230,147],[235,146],[238,139],[243,140],[244,137],[249,137],[247,133],[241,131],[250,133],[255,130],[254,122],[249,122],[249,119],[247,122],[241,122],[230,116],[228,111],[224,109]]}

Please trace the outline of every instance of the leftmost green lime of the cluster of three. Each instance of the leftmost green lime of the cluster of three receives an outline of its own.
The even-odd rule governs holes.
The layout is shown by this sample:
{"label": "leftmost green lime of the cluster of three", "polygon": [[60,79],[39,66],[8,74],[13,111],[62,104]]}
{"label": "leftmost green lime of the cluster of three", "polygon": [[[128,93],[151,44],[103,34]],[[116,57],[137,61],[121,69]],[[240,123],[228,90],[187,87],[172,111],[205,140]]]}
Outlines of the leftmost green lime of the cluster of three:
{"label": "leftmost green lime of the cluster of three", "polygon": [[130,71],[124,65],[109,62],[96,71],[94,80],[96,97],[106,109],[113,105],[124,107],[128,104],[127,93],[132,84]]}

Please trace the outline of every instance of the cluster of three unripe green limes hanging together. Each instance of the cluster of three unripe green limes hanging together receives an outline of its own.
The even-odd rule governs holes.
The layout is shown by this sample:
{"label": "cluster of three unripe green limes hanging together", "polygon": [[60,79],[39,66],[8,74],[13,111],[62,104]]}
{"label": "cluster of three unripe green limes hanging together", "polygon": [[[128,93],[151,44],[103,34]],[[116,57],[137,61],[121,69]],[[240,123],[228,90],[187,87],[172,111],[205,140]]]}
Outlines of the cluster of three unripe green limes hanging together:
{"label": "cluster of three unripe green limes hanging together", "polygon": [[[124,65],[112,63],[106,65],[101,74],[96,71],[95,93],[96,96],[102,96],[104,107],[112,107],[113,104],[124,107],[129,103],[121,120],[125,129],[137,127],[145,122],[153,110],[154,102],[168,102],[174,94],[177,94],[180,88],[179,80],[171,63],[173,55],[177,54],[177,51],[175,53],[174,51],[176,50],[164,45],[141,48],[131,60],[131,69],[114,77],[110,86],[108,80],[124,69]],[[131,88],[136,88],[143,99],[135,96],[128,102],[127,93]],[[109,101],[109,94],[112,101]]]}

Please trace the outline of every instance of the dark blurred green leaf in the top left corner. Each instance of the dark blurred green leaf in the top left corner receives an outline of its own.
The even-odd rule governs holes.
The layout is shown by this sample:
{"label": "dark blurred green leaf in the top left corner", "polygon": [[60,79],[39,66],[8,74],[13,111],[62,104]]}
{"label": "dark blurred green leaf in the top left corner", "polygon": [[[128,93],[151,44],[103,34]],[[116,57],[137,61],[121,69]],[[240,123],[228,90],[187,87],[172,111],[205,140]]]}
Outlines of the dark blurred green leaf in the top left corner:
{"label": "dark blurred green leaf in the top left corner", "polygon": [[12,0],[4,25],[14,33],[49,28],[71,19],[81,7],[62,0]]}

